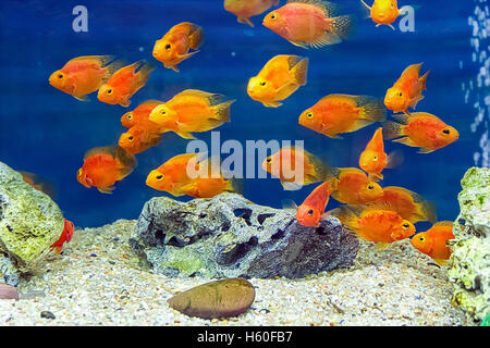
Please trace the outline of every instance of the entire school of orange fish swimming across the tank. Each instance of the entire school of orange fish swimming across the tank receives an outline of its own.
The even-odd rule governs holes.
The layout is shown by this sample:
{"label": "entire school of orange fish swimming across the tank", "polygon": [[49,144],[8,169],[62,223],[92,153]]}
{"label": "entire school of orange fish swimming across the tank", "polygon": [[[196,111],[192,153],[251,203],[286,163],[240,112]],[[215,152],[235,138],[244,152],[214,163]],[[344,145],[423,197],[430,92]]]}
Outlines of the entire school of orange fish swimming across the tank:
{"label": "entire school of orange fish swimming across the tank", "polygon": [[[396,0],[375,0],[369,7],[371,20],[393,27],[400,15]],[[225,0],[224,10],[235,14],[238,23],[254,26],[250,17],[278,7],[278,0]],[[354,18],[338,15],[333,3],[321,0],[289,0],[286,4],[269,12],[264,26],[291,44],[302,48],[321,48],[339,44],[348,37]],[[179,72],[177,65],[198,53],[203,44],[203,28],[193,23],[180,23],[155,42],[152,57],[166,69]],[[373,123],[381,126],[359,154],[357,167],[331,167],[304,149],[287,147],[268,157],[262,169],[278,177],[284,189],[297,189],[303,185],[321,183],[306,200],[296,207],[286,202],[284,209],[293,209],[298,223],[318,226],[326,214],[333,214],[359,238],[377,244],[380,249],[391,243],[412,237],[412,245],[430,256],[439,264],[445,264],[451,252],[445,241],[454,238],[452,222],[437,222],[434,207],[421,196],[403,187],[384,187],[383,171],[403,162],[401,151],[384,152],[384,139],[419,148],[420,153],[439,150],[458,138],[457,130],[441,119],[427,112],[409,112],[424,99],[429,72],[420,74],[420,64],[405,69],[400,78],[388,88],[384,101],[369,96],[329,95],[301,115],[299,125],[327,137],[341,139],[342,134],[356,132]],[[98,91],[99,101],[130,107],[131,97],[147,83],[154,66],[144,61],[131,65],[112,55],[78,57],[70,60],[61,70],[52,73],[49,83],[78,100]],[[299,87],[307,84],[308,59],[279,54],[269,60],[262,70],[248,82],[247,94],[266,108],[279,108]],[[97,187],[110,194],[113,185],[131,174],[137,165],[135,154],[157,146],[163,133],[174,132],[185,139],[194,133],[215,129],[230,122],[230,107],[234,102],[220,94],[195,89],[183,90],[168,101],[147,100],[121,117],[127,128],[114,146],[99,147],[86,152],[77,181],[87,188]],[[387,121],[387,109],[397,121]],[[225,179],[220,163],[201,153],[184,153],[173,157],[152,170],[146,184],[173,196],[209,198],[223,191],[240,191],[234,179]],[[301,165],[303,178],[282,173],[284,164],[291,170]],[[206,173],[192,178],[188,167]],[[210,173],[218,175],[209,175]],[[27,181],[27,176],[25,176]],[[34,185],[34,183],[32,183]],[[344,206],[324,213],[332,197]],[[416,234],[414,224],[430,221],[433,226]],[[65,223],[65,231],[53,245],[60,251],[64,241],[73,235],[73,224]]]}

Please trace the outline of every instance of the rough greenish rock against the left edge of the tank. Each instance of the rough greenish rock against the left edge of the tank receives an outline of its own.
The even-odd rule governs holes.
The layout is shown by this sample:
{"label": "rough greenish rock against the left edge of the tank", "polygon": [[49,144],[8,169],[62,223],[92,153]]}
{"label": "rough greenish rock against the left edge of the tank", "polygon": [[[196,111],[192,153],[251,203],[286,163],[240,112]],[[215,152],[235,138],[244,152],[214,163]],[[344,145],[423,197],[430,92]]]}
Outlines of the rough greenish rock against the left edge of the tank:
{"label": "rough greenish rock against the left edge of the tank", "polygon": [[0,162],[0,276],[15,285],[17,273],[38,270],[63,228],[51,198]]}

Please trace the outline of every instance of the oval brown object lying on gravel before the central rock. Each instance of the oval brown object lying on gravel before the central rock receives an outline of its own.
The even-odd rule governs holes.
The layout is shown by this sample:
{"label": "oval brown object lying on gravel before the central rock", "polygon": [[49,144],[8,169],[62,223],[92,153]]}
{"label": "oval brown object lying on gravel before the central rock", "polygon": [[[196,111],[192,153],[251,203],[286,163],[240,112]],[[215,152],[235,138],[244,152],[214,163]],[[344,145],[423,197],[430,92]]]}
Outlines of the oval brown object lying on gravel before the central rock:
{"label": "oval brown object lying on gravel before the central rock", "polygon": [[180,293],[168,300],[174,310],[203,319],[237,316],[255,299],[254,286],[242,278],[206,283]]}

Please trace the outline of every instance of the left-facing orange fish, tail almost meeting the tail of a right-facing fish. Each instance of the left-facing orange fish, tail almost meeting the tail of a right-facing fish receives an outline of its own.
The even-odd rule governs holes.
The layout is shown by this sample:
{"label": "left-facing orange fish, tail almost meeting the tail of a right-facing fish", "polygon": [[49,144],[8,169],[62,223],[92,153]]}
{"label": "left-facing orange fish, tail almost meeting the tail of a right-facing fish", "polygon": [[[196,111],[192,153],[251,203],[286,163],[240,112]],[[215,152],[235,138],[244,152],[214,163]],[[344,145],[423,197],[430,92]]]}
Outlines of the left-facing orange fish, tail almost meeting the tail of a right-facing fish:
{"label": "left-facing orange fish, tail almost meeting the tail of a right-facing fish", "polygon": [[379,100],[365,96],[330,95],[299,116],[299,124],[330,138],[384,121],[387,110]]}

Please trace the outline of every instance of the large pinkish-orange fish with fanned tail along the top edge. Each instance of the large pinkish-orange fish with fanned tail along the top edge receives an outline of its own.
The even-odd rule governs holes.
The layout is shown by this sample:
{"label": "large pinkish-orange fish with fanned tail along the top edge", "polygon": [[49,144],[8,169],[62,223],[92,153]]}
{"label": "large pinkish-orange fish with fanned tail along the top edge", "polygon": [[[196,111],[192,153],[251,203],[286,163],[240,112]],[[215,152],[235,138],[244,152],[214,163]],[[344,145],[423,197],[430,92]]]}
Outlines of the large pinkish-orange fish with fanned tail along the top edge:
{"label": "large pinkish-orange fish with fanned tail along the top edge", "polygon": [[319,48],[345,39],[353,25],[350,15],[333,17],[334,5],[319,0],[289,0],[270,12],[264,25],[291,44]]}

